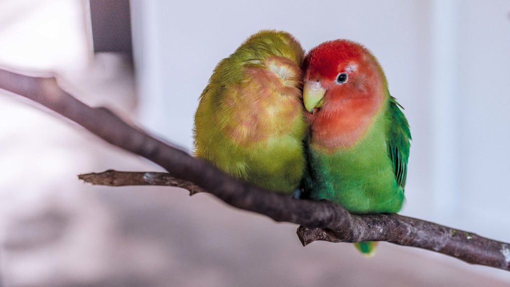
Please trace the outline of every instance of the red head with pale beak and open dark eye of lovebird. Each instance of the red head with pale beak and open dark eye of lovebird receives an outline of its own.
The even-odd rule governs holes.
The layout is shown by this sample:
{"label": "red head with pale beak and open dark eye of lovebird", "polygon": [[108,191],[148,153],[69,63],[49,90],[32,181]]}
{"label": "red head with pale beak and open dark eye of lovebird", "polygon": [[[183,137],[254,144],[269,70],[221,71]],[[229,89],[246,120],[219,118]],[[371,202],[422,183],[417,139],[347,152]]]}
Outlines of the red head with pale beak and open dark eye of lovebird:
{"label": "red head with pale beak and open dark eye of lovebird", "polygon": [[314,47],[304,59],[303,73],[304,107],[313,114],[309,116],[377,104],[376,90],[386,85],[375,57],[361,44],[344,39]]}

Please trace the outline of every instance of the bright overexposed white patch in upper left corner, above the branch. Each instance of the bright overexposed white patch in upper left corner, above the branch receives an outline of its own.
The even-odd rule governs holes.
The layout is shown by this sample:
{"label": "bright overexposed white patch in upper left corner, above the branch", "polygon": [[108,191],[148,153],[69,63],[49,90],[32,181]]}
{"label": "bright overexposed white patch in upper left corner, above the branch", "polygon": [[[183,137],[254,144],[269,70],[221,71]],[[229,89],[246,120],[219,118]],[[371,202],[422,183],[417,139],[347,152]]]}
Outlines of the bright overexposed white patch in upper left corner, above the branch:
{"label": "bright overexposed white patch in upper left corner, above the branch", "polygon": [[83,0],[0,1],[0,66],[79,70],[92,59]]}

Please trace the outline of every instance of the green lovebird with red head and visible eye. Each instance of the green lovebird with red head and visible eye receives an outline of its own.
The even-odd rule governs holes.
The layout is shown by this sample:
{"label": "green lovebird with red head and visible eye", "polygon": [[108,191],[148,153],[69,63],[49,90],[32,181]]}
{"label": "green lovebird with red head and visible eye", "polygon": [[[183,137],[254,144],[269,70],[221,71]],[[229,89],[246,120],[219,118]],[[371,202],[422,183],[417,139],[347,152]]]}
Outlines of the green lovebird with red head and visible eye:
{"label": "green lovebird with red head and visible eye", "polygon": [[[328,41],[307,54],[303,74],[307,196],[354,214],[400,211],[411,133],[377,59],[359,43]],[[375,250],[373,242],[355,246]]]}

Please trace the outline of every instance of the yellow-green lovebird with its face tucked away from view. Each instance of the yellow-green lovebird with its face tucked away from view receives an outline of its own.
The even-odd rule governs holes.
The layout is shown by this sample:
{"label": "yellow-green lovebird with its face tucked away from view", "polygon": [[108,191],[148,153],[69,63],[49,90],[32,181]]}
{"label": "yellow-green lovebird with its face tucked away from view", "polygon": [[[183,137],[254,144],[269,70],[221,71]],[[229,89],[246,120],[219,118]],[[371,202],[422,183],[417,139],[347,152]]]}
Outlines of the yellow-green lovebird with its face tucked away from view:
{"label": "yellow-green lovebird with its face tucked away from view", "polygon": [[297,192],[306,166],[303,59],[292,35],[261,31],[221,60],[195,113],[195,155],[264,189]]}

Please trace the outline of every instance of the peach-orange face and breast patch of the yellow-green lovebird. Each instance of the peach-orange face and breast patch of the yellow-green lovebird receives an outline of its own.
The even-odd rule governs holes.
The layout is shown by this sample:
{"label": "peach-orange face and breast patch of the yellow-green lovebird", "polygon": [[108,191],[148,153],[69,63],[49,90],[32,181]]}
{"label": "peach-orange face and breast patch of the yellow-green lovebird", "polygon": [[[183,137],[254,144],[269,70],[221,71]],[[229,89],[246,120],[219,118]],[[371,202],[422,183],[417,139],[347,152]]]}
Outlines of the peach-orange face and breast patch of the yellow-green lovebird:
{"label": "peach-orange face and breast patch of the yellow-green lovebird", "polygon": [[241,146],[287,134],[302,116],[301,71],[284,57],[245,65],[244,80],[225,97],[225,133]]}

